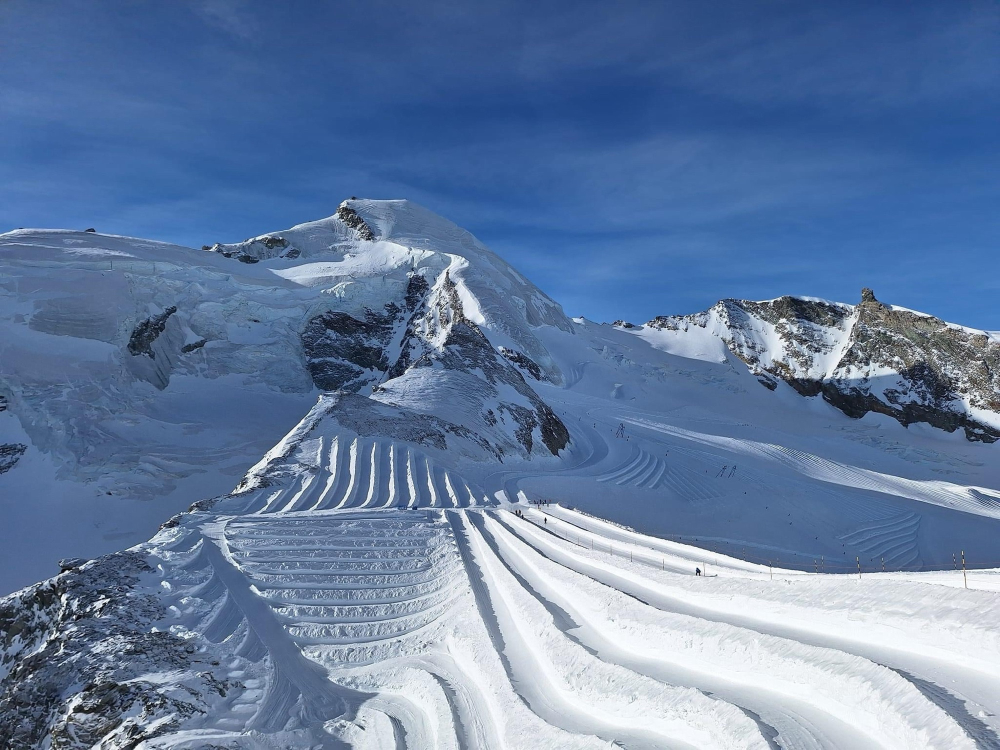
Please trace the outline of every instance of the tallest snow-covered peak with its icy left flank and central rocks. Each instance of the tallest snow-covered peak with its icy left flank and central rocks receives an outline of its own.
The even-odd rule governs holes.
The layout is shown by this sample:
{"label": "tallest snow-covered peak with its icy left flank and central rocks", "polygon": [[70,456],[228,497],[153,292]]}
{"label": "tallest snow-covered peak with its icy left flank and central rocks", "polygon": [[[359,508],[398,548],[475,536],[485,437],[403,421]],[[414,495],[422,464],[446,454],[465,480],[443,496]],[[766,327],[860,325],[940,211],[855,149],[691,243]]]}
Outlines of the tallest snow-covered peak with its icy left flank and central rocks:
{"label": "tallest snow-covered peak with its icy left flank and central rocks", "polygon": [[5,498],[21,499],[5,509],[0,548],[10,561],[51,551],[44,567],[0,565],[0,590],[230,490],[318,389],[474,432],[494,460],[566,445],[522,373],[560,382],[533,331],[572,324],[451,222],[407,201],[352,200],[214,249],[0,235],[0,467],[21,467],[5,475]]}

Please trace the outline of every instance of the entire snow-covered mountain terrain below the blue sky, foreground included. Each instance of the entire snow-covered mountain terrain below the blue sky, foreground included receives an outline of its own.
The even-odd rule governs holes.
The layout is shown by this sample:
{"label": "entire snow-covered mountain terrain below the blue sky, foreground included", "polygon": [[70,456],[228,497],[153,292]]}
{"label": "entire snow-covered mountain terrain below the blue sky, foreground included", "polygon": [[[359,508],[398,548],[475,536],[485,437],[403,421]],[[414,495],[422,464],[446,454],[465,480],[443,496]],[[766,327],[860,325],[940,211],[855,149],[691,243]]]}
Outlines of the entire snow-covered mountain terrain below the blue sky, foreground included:
{"label": "entire snow-covered mountain terrain below the blue sky, foreground included", "polygon": [[5,590],[81,558],[0,599],[0,746],[1000,746],[997,346],[569,319],[407,201],[0,235]]}

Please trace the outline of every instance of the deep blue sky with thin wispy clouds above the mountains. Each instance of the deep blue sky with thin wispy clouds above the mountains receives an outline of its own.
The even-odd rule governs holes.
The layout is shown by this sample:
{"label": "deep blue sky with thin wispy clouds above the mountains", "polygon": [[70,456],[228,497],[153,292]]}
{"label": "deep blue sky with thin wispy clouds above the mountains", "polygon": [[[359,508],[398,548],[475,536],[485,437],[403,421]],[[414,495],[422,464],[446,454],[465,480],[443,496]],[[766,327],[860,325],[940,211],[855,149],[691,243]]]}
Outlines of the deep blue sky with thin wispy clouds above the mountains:
{"label": "deep blue sky with thin wispy clouds above the mountains", "polygon": [[0,230],[200,246],[410,198],[596,320],[1000,329],[1000,3],[0,0]]}

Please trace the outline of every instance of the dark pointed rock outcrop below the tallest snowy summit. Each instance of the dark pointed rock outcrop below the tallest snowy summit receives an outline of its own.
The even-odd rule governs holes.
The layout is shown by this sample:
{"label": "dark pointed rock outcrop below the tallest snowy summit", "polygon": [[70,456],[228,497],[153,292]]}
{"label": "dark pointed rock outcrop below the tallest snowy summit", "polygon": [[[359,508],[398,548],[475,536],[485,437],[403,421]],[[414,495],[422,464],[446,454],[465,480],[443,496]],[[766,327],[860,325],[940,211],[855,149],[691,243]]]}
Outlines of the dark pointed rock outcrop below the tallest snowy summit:
{"label": "dark pointed rock outcrop below the tallest snowy summit", "polygon": [[[539,439],[553,455],[569,442],[565,425],[522,375],[523,370],[542,380],[541,367],[519,351],[494,348],[484,331],[466,316],[447,270],[433,285],[424,273],[409,274],[400,298],[385,303],[382,310],[366,307],[360,314],[330,310],[316,315],[306,324],[301,340],[306,367],[317,388],[371,393],[387,405],[396,404],[396,393],[403,396],[414,408],[412,429],[397,416],[398,423],[389,434],[412,432],[420,436],[414,442],[431,440],[444,450],[450,433],[497,458],[511,450],[509,440],[525,455],[534,452]],[[453,419],[423,414],[421,399],[414,394],[427,388],[437,389],[427,402],[441,402],[441,391],[453,388],[462,392],[462,403],[475,411],[458,411]],[[362,424],[365,419],[384,422],[378,409],[365,410],[359,402],[342,398],[337,403],[352,405],[338,418],[350,422],[358,434],[367,433]],[[435,434],[440,438],[434,438]]]}

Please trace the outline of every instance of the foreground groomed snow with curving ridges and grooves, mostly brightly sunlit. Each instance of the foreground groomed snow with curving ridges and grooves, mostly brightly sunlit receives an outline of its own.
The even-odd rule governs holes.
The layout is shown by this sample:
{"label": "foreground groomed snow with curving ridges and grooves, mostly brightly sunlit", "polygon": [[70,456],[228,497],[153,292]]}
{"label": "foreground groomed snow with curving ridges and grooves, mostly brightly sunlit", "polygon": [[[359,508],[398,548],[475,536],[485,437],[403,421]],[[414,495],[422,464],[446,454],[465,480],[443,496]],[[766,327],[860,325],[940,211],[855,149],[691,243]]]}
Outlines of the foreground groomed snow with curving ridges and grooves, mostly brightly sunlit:
{"label": "foreground groomed snow with curving ridges and grooves, mostly brightly sunlit", "polygon": [[149,551],[245,689],[143,747],[1000,747],[997,595],[935,574],[509,504],[197,513]]}

